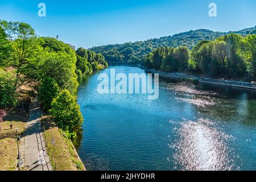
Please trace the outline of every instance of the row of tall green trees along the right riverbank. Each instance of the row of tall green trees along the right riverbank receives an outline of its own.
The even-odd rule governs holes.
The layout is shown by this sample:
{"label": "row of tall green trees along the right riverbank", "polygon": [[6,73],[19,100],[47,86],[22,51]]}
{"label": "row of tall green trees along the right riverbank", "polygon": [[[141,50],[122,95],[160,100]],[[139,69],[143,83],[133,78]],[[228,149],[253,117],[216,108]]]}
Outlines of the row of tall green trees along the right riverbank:
{"label": "row of tall green trees along the right riverbank", "polygon": [[214,78],[256,78],[256,35],[228,34],[187,47],[159,47],[142,64],[164,72],[188,72]]}

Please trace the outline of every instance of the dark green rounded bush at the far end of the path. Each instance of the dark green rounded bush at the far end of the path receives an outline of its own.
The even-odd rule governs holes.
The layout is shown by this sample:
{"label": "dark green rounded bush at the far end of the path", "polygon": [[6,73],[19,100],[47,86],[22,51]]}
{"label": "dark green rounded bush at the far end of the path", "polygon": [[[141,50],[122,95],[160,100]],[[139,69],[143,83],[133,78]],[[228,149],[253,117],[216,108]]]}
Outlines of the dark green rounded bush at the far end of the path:
{"label": "dark green rounded bush at the far end of the path", "polygon": [[51,77],[44,78],[38,88],[39,101],[44,107],[44,110],[51,109],[53,98],[59,93],[59,86],[56,81]]}

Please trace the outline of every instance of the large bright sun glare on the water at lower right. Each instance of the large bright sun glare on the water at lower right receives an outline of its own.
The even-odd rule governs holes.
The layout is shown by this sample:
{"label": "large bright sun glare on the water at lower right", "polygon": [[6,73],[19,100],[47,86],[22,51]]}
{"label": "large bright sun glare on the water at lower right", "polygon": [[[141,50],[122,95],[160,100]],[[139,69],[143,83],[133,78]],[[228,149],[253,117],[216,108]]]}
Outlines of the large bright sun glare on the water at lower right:
{"label": "large bright sun glare on the water at lower right", "polygon": [[[232,151],[228,141],[232,137],[218,131],[213,122],[205,119],[184,121],[177,129],[178,141],[171,144],[174,159],[184,170],[231,170]],[[230,157],[232,156],[232,157]]]}

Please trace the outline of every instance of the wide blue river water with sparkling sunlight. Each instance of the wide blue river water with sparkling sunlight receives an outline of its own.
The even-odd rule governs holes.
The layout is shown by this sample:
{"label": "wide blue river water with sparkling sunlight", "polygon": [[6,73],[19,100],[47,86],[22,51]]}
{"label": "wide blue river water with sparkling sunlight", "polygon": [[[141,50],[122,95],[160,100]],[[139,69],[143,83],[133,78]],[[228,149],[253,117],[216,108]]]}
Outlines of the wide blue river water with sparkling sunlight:
{"label": "wide blue river water with sparkling sunlight", "polygon": [[[143,73],[117,66],[116,73]],[[81,81],[77,150],[87,170],[256,170],[256,92],[160,80],[147,94],[100,94]]]}

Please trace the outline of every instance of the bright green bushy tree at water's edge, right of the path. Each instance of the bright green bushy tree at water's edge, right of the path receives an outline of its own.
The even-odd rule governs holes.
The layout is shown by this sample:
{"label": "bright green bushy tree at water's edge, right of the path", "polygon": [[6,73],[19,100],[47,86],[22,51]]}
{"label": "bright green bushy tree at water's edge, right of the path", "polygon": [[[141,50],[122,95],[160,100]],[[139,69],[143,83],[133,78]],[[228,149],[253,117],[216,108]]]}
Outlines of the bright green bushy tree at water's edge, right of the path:
{"label": "bright green bushy tree at water's edge, right of the path", "polygon": [[68,90],[61,91],[52,101],[50,113],[56,124],[72,133],[80,129],[82,125],[82,114],[76,98]]}

